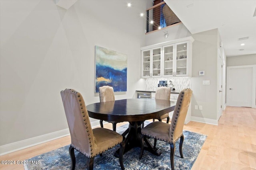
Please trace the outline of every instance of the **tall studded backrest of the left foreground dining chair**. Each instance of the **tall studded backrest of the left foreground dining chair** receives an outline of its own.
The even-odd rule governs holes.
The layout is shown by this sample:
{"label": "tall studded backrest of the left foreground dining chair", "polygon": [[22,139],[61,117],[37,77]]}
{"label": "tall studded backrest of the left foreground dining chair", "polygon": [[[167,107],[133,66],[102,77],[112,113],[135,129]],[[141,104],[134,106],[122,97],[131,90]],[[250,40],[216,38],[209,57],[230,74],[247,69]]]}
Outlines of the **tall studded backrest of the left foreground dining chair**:
{"label": "tall studded backrest of the left foreground dining chair", "polygon": [[94,136],[84,99],[73,89],[62,90],[60,94],[68,121],[71,145],[90,157],[94,152]]}

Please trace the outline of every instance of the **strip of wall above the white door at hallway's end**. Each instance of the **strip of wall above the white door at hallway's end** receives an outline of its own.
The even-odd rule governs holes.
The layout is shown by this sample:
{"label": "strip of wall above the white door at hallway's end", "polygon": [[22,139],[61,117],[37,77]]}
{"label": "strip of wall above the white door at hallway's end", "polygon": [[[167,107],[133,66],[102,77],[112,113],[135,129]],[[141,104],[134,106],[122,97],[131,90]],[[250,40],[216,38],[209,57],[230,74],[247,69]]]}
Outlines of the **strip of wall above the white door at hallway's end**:
{"label": "strip of wall above the white door at hallway's end", "polygon": [[256,64],[256,54],[227,57],[227,66],[243,66]]}

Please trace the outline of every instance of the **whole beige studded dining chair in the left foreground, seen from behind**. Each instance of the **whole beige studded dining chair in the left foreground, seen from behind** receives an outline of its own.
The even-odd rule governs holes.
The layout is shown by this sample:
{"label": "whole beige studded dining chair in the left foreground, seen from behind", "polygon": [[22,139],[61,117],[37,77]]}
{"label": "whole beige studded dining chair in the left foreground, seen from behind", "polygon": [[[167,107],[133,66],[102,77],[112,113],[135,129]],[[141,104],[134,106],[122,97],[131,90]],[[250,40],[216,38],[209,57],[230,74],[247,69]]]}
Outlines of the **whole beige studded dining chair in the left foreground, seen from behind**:
{"label": "whole beige studded dining chair in the left foreground, seen from behind", "polygon": [[120,144],[119,162],[121,169],[124,170],[123,153],[125,144],[122,135],[109,129],[92,129],[84,99],[76,90],[66,89],[62,90],[60,94],[71,136],[69,147],[71,169],[74,170],[76,166],[74,149],[88,158],[87,169],[92,170],[96,155],[100,154],[102,156],[102,152]]}

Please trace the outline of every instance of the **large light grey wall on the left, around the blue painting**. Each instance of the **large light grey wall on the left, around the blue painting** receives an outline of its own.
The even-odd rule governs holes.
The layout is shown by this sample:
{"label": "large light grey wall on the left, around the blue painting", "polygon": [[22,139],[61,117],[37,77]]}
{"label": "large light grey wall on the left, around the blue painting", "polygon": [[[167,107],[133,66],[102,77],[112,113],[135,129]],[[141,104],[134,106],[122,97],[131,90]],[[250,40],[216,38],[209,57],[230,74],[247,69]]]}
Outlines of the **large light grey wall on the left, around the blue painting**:
{"label": "large light grey wall on the left, around the blue painting", "polygon": [[116,99],[135,97],[135,90],[145,88],[140,47],[146,45],[146,22],[139,14],[152,3],[132,4],[128,9],[126,1],[81,0],[65,10],[53,0],[1,0],[1,153],[17,149],[17,143],[33,145],[29,139],[41,135],[37,142],[67,132],[61,90],[78,90],[87,105],[99,102],[95,45],[128,55],[127,92],[116,93]]}

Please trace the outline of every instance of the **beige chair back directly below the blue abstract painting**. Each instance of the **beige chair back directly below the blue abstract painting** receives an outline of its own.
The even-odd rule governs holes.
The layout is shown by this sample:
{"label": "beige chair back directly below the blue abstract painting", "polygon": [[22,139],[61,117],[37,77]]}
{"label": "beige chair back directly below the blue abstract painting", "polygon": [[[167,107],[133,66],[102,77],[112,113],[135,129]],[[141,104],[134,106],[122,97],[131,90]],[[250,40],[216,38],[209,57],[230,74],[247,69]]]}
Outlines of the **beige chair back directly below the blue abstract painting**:
{"label": "beige chair back directly below the blue abstract painting", "polygon": [[99,92],[100,92],[100,102],[108,102],[108,101],[115,100],[113,87],[102,86],[99,88]]}

